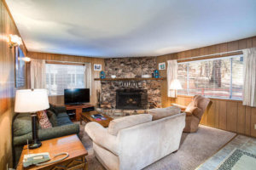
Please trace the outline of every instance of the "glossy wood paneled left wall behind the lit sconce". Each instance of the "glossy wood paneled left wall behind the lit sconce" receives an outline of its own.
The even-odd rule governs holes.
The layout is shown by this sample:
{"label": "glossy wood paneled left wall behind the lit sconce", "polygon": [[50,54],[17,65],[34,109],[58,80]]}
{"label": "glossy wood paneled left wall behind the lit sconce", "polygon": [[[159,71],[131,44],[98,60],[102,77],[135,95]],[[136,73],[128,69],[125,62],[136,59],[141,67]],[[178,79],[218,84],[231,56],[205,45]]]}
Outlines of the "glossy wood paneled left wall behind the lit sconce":
{"label": "glossy wood paneled left wall behind the lit sconce", "polygon": [[[15,105],[15,48],[9,48],[9,34],[19,35],[3,0],[0,1],[0,169],[12,167],[11,126]],[[26,54],[26,48],[20,46]],[[24,87],[26,88],[26,87]]]}

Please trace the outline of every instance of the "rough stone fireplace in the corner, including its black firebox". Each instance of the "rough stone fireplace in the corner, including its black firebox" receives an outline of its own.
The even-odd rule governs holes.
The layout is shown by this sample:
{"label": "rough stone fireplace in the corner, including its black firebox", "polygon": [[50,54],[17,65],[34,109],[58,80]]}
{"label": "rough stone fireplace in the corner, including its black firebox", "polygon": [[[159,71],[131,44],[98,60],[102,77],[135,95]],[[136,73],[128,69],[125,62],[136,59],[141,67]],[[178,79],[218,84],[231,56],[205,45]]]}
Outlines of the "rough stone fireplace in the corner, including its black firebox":
{"label": "rough stone fireplace in the corner, including its black firebox", "polygon": [[156,57],[105,59],[107,78],[115,75],[117,78],[131,80],[101,81],[101,99],[110,103],[111,109],[98,108],[98,111],[108,115],[126,116],[160,107],[160,80],[136,79],[143,74],[152,74],[155,69]]}

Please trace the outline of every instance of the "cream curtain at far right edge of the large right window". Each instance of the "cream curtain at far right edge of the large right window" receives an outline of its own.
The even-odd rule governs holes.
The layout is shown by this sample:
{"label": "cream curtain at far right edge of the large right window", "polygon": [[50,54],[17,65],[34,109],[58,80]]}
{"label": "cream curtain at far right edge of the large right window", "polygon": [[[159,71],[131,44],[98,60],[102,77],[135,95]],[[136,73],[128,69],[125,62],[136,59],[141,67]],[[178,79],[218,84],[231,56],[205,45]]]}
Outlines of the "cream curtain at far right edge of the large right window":
{"label": "cream curtain at far right edge of the large right window", "polygon": [[242,104],[256,107],[256,48],[243,52],[243,88]]}

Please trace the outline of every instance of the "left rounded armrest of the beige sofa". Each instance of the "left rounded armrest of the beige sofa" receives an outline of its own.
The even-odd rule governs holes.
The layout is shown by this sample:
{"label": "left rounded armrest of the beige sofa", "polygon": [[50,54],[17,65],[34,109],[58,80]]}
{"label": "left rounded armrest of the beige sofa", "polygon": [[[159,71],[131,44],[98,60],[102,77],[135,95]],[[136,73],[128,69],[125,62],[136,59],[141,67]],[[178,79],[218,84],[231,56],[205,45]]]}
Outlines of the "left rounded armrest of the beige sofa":
{"label": "left rounded armrest of the beige sofa", "polygon": [[102,125],[97,122],[89,122],[84,127],[84,131],[90,136],[94,143],[113,152],[116,156],[119,156],[117,137],[109,134],[107,128],[102,127]]}

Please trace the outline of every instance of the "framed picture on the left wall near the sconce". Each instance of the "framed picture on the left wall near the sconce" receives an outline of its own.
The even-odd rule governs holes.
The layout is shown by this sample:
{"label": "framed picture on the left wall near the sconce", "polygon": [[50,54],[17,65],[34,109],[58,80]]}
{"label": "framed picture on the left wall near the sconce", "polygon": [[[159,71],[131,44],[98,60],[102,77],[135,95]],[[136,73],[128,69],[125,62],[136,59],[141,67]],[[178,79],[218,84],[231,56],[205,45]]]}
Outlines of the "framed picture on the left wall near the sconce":
{"label": "framed picture on the left wall near the sconce", "polygon": [[20,47],[15,47],[15,87],[20,88],[25,86],[26,63],[25,55]]}

